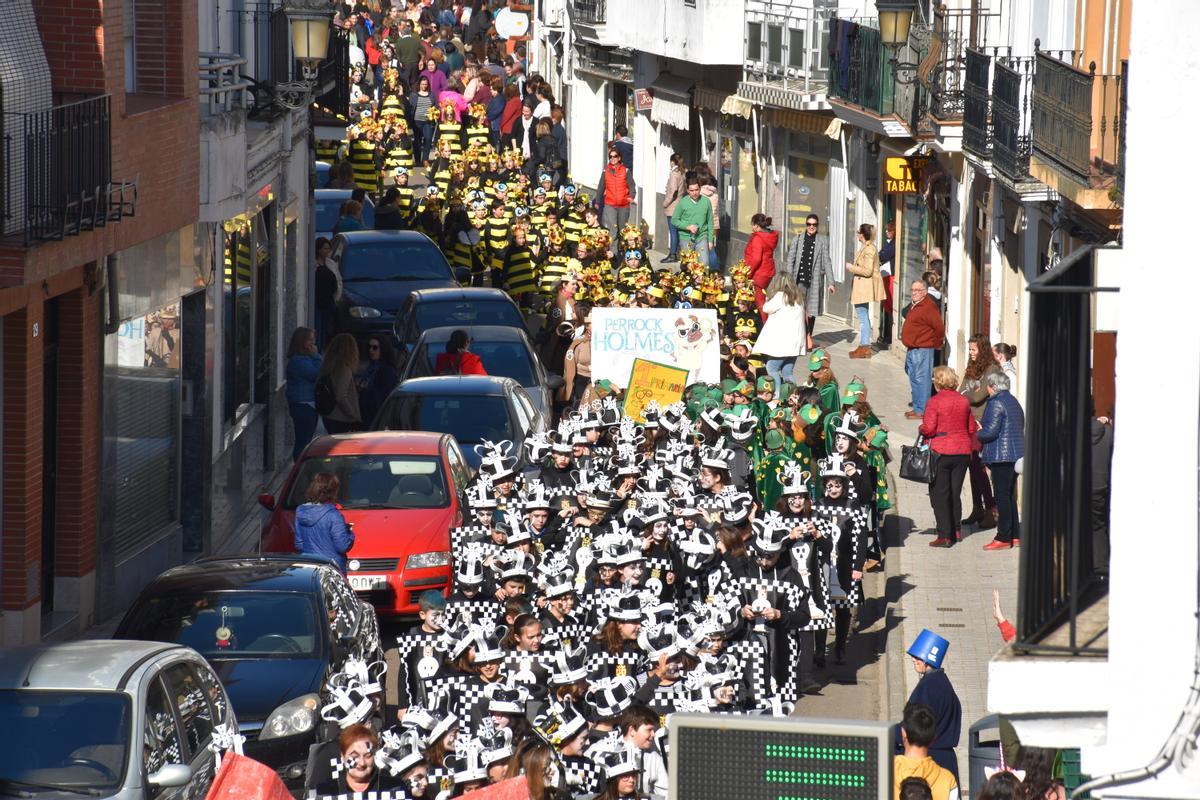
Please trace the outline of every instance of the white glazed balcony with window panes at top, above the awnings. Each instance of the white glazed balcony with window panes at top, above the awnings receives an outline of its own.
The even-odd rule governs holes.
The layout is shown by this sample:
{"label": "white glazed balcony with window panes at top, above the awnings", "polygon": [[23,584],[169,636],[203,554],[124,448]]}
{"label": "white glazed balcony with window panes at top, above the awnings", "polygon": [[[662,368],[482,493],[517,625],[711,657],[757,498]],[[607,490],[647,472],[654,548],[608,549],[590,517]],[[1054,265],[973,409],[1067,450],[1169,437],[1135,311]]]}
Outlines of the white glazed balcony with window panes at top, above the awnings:
{"label": "white glazed balcony with window panes at top, above the awnings", "polygon": [[738,95],[763,106],[827,110],[827,49],[824,19],[812,10],[750,0]]}

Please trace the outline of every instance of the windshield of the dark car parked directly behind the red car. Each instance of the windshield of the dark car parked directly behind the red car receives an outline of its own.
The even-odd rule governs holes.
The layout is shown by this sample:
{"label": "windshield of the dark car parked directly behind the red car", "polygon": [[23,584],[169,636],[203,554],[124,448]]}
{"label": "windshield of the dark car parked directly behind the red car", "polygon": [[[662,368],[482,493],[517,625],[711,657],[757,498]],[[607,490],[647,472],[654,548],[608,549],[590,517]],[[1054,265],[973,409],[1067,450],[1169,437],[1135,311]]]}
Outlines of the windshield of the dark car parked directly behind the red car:
{"label": "windshield of the dark car parked directly behind the red car", "polygon": [[512,426],[503,397],[473,395],[398,395],[385,413],[391,431],[437,431],[460,444],[512,440]]}

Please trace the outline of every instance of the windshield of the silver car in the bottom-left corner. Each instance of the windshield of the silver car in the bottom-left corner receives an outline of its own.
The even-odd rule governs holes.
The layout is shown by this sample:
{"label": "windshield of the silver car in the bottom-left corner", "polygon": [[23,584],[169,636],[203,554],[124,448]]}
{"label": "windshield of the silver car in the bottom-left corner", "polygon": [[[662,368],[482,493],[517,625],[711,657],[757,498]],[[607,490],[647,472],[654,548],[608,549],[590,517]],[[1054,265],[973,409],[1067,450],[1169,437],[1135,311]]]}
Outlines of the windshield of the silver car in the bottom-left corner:
{"label": "windshield of the silver car in the bottom-left corner", "polygon": [[130,698],[119,692],[0,690],[7,742],[0,747],[0,784],[116,788],[125,776],[130,726]]}

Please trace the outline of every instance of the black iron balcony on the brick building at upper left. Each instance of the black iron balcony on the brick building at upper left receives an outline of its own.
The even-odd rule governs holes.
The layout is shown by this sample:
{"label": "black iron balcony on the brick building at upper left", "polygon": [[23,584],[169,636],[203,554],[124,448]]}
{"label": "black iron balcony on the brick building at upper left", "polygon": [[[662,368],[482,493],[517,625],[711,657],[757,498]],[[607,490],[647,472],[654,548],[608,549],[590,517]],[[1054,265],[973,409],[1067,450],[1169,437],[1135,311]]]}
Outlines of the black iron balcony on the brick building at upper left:
{"label": "black iron balcony on the brick building at upper left", "polygon": [[133,216],[136,181],[113,181],[109,96],[30,114],[4,113],[0,213],[5,236],[56,241]]}

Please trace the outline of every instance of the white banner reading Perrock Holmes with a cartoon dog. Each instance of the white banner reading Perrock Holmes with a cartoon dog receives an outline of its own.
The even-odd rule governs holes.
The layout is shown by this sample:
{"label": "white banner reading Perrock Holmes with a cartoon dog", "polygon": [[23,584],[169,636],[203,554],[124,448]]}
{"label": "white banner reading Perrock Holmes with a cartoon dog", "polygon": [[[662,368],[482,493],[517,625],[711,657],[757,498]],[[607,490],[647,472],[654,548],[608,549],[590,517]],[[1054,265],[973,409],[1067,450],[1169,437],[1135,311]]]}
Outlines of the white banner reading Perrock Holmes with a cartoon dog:
{"label": "white banner reading Perrock Holmes with a cartoon dog", "polygon": [[592,380],[624,389],[635,359],[685,369],[685,384],[720,383],[716,309],[593,308]]}

